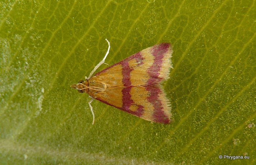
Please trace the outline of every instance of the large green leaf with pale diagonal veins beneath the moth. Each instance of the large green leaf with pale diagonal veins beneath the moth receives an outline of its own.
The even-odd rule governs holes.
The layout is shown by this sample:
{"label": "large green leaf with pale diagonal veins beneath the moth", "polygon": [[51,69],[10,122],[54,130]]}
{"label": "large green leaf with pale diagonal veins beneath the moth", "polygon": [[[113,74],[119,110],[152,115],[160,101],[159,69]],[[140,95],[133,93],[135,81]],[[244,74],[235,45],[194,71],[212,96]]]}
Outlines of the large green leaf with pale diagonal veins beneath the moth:
{"label": "large green leaf with pale diagonal veins beneath the moth", "polygon": [[[255,0],[0,4],[0,164],[256,163]],[[70,85],[104,57],[105,38],[110,65],[172,43],[173,123],[93,101],[91,124],[90,98]]]}

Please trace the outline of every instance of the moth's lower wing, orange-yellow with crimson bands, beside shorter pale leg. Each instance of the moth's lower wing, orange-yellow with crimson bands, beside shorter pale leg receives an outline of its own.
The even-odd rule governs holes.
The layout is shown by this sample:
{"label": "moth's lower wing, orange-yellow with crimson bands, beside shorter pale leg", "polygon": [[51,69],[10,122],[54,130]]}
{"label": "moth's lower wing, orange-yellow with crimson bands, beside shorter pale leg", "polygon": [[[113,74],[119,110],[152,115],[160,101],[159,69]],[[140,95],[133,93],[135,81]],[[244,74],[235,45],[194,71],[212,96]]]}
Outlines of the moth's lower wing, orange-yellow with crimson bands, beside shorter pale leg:
{"label": "moth's lower wing, orange-yellow with crimson bands, beside shorter pale leg", "polygon": [[145,120],[170,123],[169,100],[160,87],[108,87],[105,91],[97,92],[95,97]]}

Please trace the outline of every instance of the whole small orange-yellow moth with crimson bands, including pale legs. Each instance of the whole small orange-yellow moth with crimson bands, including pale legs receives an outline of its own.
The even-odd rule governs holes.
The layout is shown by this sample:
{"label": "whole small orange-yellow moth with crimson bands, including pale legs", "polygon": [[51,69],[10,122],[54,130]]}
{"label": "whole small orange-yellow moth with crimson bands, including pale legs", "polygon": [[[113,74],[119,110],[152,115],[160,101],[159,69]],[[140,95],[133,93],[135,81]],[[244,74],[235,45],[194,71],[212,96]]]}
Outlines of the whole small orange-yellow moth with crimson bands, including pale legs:
{"label": "whole small orange-yellow moth with crimson bands, including pale legs", "polygon": [[91,102],[96,99],[148,121],[168,124],[171,121],[170,102],[161,83],[169,79],[172,67],[172,46],[161,43],[141,50],[124,60],[92,74],[105,62],[105,57],[90,73],[70,87],[88,93],[88,102],[94,123]]}

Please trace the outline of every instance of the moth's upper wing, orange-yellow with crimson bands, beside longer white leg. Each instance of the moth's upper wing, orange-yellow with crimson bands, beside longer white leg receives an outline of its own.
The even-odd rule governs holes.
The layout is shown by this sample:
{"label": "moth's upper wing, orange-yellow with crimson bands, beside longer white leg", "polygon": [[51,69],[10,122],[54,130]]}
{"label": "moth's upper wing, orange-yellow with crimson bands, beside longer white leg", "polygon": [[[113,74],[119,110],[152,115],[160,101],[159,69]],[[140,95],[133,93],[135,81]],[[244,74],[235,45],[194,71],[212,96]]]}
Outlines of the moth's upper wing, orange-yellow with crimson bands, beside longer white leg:
{"label": "moth's upper wing, orange-yellow with crimson bands, beside longer white leg", "polygon": [[111,83],[113,78],[119,79],[116,83],[122,82],[123,86],[159,84],[169,78],[172,53],[169,43],[154,45],[103,69],[95,76],[107,78],[106,83]]}

